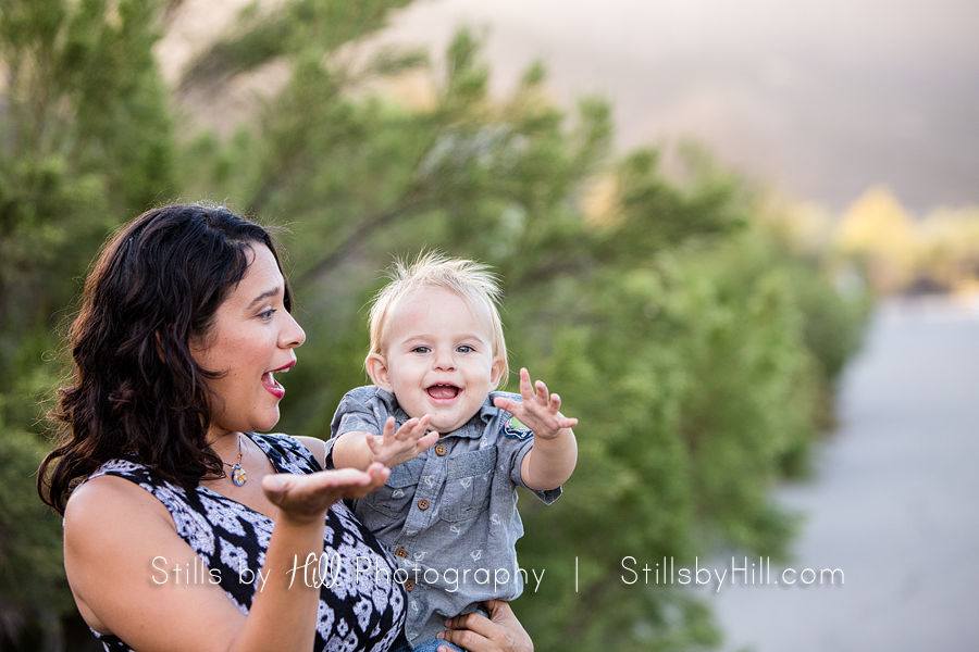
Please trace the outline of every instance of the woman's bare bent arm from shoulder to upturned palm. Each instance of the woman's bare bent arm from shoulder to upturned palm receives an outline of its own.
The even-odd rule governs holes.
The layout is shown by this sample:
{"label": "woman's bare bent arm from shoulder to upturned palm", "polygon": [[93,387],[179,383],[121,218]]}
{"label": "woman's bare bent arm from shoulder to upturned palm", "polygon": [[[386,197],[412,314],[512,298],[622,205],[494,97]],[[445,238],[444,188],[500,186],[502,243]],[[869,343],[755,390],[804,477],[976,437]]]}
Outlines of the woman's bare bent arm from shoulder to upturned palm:
{"label": "woman's bare bent arm from shoulder to upturned palm", "polygon": [[387,469],[375,465],[306,476],[269,475],[265,496],[277,506],[265,553],[264,584],[246,617],[216,585],[193,568],[200,557],[176,534],[166,507],[133,482],[94,478],[75,490],[64,519],[65,570],[85,620],[146,651],[309,652],[319,591],[294,561],[323,552],[323,521],[331,504],[380,487]]}

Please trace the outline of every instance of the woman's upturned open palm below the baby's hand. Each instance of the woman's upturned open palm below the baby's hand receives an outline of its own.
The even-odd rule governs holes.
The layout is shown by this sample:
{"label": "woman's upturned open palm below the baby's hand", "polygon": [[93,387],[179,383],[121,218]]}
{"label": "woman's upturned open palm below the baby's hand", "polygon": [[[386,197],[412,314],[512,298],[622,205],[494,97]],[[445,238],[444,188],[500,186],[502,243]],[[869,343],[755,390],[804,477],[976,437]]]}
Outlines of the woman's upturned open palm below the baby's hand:
{"label": "woman's upturned open palm below the baby's hand", "polygon": [[262,478],[265,497],[282,512],[280,518],[297,524],[322,521],[330,505],[346,498],[359,499],[387,481],[391,469],[380,463],[368,469],[340,468],[309,475],[271,474]]}

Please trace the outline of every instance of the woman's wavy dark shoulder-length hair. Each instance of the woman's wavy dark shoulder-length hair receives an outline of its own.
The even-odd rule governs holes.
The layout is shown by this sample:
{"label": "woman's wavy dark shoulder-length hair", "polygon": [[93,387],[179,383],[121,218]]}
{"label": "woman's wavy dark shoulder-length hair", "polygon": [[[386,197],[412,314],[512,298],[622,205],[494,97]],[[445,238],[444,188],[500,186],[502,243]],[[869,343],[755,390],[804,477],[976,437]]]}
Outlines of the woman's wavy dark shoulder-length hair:
{"label": "woman's wavy dark shoulder-length hair", "polygon": [[[207,380],[221,374],[195,362],[190,342],[209,335],[257,244],[281,269],[268,230],[198,204],[147,211],[107,243],[69,333],[73,377],[51,414],[62,439],[40,465],[41,500],[64,514],[78,481],[114,459],[187,490],[224,475],[207,443]],[[288,281],[284,304],[292,309]]]}

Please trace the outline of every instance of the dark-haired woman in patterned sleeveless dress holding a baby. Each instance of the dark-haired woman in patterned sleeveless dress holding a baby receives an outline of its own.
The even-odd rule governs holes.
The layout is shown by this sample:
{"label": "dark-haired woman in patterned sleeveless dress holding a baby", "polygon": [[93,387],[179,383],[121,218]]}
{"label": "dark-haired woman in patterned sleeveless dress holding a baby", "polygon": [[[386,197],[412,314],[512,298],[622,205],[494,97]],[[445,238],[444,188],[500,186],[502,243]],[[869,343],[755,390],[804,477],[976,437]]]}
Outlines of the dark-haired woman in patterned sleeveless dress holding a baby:
{"label": "dark-haired woman in patterned sleeveless dress holding a baby", "polygon": [[[107,650],[402,642],[404,589],[342,502],[388,469],[324,472],[322,441],[253,434],[278,421],[275,374],[306,337],[290,304],[273,239],[223,208],[148,211],[89,275],[65,437],[38,488],[64,515],[69,584]],[[491,607],[445,638],[530,649],[509,607]]]}

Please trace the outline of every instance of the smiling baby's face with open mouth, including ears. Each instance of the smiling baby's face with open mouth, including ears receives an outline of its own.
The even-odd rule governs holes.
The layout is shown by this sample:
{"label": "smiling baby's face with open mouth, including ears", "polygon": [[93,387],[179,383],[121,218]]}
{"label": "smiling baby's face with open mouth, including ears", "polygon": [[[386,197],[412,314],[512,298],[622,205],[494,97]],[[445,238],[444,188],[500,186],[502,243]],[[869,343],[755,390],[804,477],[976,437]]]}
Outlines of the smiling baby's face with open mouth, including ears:
{"label": "smiling baby's face with open mouth, including ears", "polygon": [[[421,288],[391,313],[384,355],[369,371],[408,416],[432,415],[444,435],[466,424],[499,379],[503,361],[492,346],[487,309],[475,311],[455,292]],[[475,314],[474,314],[475,313]]]}

